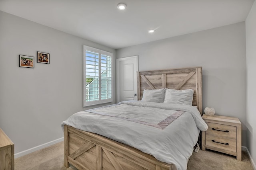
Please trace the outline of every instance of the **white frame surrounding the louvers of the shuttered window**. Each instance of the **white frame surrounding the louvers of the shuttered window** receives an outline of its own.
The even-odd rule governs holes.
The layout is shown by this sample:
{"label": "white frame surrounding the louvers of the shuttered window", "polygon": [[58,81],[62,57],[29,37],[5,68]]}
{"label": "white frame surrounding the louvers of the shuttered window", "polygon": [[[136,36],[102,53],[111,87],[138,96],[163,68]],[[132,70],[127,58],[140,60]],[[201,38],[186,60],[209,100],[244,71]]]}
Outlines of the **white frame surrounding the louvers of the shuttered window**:
{"label": "white frame surrounding the louvers of the shuttered window", "polygon": [[[99,54],[99,99],[95,100],[95,101],[87,101],[86,102],[86,51],[92,51],[95,53]],[[93,106],[93,105],[97,105],[97,104],[104,104],[104,103],[110,103],[113,102],[113,53],[107,52],[107,51],[103,51],[100,49],[96,49],[93,47],[89,47],[87,45],[83,45],[83,54],[82,54],[82,59],[83,59],[83,107],[86,106]],[[101,55],[107,55],[111,57],[111,98],[110,99],[101,99]]]}

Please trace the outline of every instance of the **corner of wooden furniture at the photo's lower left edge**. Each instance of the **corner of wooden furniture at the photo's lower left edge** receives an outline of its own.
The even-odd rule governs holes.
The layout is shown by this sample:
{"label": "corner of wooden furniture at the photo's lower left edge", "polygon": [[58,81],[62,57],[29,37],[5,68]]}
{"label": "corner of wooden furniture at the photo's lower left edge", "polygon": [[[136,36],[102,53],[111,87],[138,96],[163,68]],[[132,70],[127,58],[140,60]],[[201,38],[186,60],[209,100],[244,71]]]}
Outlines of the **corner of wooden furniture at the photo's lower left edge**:
{"label": "corner of wooden furniture at the photo's lower left edge", "polygon": [[14,170],[14,144],[0,128],[0,170]]}

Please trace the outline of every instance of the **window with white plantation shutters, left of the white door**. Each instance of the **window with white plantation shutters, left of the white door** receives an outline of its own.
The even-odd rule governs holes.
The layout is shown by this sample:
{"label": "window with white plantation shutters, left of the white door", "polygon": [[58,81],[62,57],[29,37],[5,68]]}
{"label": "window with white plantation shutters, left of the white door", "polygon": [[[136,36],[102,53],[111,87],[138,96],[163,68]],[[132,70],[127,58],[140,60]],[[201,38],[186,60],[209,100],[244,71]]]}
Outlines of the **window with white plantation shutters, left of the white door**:
{"label": "window with white plantation shutters, left of the white door", "polygon": [[112,53],[83,46],[83,104],[112,102]]}

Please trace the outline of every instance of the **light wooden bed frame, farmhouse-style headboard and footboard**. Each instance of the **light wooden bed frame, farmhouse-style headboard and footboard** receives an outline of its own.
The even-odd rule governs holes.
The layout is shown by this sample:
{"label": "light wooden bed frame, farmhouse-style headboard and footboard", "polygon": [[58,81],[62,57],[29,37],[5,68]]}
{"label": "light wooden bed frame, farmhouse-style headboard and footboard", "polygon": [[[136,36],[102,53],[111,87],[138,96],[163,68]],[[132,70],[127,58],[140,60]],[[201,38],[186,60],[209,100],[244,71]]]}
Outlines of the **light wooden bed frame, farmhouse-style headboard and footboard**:
{"label": "light wooden bed frame, farmhouse-style headboard and footboard", "polygon": [[[193,106],[202,115],[202,67],[137,72],[138,100],[143,90],[171,88],[193,89]],[[171,170],[172,164],[161,162],[138,149],[95,133],[64,126],[64,166],[79,170]]]}

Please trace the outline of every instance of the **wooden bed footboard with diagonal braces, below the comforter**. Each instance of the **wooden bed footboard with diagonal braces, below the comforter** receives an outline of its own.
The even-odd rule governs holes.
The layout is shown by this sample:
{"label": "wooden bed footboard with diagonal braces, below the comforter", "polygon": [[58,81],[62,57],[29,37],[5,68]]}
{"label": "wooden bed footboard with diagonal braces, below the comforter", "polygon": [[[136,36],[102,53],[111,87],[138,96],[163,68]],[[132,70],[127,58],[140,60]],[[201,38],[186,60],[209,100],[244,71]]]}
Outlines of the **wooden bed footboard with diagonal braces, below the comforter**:
{"label": "wooden bed footboard with diagonal braces, below the comforter", "polygon": [[79,170],[171,170],[138,149],[101,135],[64,126],[64,166]]}

